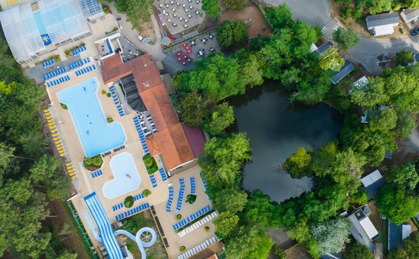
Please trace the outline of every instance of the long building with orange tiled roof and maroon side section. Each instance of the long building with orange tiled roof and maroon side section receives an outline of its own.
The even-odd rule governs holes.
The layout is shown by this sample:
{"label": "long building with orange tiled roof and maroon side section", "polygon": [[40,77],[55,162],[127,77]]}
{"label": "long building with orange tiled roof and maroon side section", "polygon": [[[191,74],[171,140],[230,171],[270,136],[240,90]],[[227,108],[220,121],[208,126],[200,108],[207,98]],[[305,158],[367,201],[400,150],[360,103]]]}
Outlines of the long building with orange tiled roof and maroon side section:
{"label": "long building with orange tiled roof and maroon side section", "polygon": [[132,74],[141,100],[150,113],[157,132],[146,138],[152,156],[160,155],[166,169],[174,170],[194,161],[203,153],[204,136],[199,128],[179,122],[156,63],[148,54],[123,62],[119,54],[103,60],[105,84]]}

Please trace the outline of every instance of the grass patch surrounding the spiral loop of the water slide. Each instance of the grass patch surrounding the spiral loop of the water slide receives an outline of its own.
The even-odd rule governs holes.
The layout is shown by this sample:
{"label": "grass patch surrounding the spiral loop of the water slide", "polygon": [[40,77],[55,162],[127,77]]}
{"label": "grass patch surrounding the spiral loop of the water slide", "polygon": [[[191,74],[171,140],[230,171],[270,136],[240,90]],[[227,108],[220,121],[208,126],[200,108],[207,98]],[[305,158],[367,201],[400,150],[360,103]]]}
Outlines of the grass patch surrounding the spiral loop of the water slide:
{"label": "grass patch surrounding the spiral loop of the water slide", "polygon": [[[130,221],[130,223],[126,223],[127,221]],[[156,231],[157,239],[156,243],[146,248],[147,253],[147,259],[160,259],[160,258],[168,258],[168,255],[166,253],[166,250],[163,246],[162,238],[160,237],[160,234],[157,230],[156,224],[154,223],[153,216],[151,215],[150,210],[146,210],[144,212],[135,214],[134,216],[123,220],[122,224],[130,225],[130,231],[134,236],[137,234],[137,231],[144,227],[150,227]],[[132,228],[132,229],[131,229]],[[124,226],[122,229],[125,229]],[[132,231],[132,230],[135,231]],[[132,241],[131,239],[126,239],[126,245],[133,254],[134,258],[141,258],[141,252],[138,249],[137,243],[135,241]]]}

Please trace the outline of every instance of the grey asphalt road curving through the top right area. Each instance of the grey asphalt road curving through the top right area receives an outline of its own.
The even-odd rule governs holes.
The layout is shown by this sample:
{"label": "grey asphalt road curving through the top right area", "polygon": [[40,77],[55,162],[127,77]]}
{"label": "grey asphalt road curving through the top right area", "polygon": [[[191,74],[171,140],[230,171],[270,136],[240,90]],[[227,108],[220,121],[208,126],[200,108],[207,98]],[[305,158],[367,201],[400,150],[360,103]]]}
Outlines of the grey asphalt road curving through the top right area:
{"label": "grey asphalt road curving through the top right area", "polygon": [[[303,20],[311,25],[324,26],[324,35],[332,38],[333,29],[337,26],[336,21],[330,16],[331,0],[263,0],[267,4],[279,5],[286,3],[295,19]],[[419,38],[407,39],[377,39],[360,37],[348,55],[359,62],[364,69],[372,74],[379,74],[388,65],[390,56],[403,49],[417,52],[419,50]],[[382,62],[384,61],[384,62]]]}

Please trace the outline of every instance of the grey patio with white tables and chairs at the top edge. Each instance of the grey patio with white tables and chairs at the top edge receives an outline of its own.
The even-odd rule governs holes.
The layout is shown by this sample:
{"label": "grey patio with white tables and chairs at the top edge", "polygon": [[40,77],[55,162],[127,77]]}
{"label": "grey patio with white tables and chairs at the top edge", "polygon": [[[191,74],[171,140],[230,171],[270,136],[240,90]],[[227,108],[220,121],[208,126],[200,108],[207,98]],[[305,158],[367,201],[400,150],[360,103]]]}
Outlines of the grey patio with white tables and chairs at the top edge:
{"label": "grey patio with white tables and chairs at the top edge", "polygon": [[160,12],[157,19],[172,35],[189,30],[203,21],[201,0],[156,0],[154,5]]}

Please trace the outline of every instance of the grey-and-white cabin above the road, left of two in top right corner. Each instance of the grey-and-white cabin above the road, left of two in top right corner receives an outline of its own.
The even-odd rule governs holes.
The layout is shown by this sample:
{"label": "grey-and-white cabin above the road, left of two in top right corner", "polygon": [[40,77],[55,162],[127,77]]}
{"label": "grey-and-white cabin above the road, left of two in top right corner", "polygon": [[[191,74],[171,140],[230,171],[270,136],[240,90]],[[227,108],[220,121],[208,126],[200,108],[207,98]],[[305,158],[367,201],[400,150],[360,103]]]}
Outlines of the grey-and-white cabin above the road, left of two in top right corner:
{"label": "grey-and-white cabin above the road, left of two in top right corner", "polygon": [[398,12],[369,15],[365,20],[367,29],[373,33],[374,37],[392,34],[393,27],[400,23]]}

